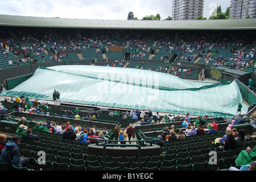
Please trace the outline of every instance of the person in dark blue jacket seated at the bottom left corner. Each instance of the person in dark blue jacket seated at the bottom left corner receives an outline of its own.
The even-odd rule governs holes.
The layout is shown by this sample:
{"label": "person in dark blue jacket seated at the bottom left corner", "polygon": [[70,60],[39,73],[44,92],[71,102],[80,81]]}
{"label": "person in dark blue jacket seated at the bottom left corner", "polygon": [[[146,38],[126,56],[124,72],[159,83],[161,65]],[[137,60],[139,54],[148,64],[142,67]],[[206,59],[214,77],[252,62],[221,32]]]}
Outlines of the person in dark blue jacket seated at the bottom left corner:
{"label": "person in dark blue jacket seated at the bottom left corner", "polygon": [[21,137],[14,135],[13,140],[5,144],[5,148],[2,150],[0,162],[6,162],[10,168],[15,167],[29,167],[29,158],[21,159],[21,148],[19,148],[19,141]]}

